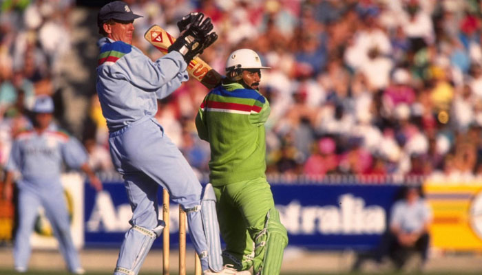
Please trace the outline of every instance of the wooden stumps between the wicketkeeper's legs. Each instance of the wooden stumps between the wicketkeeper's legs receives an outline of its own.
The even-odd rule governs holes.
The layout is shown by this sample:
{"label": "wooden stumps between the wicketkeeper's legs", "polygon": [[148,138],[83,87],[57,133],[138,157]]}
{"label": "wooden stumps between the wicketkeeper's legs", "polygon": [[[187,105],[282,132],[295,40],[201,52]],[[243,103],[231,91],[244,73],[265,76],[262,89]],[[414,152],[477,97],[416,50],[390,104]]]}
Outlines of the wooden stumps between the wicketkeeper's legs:
{"label": "wooden stumps between the wicketkeeper's legs", "polygon": [[[169,192],[163,190],[163,275],[169,275]],[[194,274],[201,275],[201,262],[194,252]],[[179,275],[186,275],[186,212],[179,206]]]}

